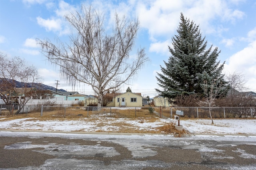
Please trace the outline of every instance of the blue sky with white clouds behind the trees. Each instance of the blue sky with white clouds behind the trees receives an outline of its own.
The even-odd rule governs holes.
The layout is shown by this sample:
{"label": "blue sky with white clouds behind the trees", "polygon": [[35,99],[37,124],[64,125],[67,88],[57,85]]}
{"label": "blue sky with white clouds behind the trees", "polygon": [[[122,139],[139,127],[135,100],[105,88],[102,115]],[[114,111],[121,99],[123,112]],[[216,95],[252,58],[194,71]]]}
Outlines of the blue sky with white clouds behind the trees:
{"label": "blue sky with white clouds behind the trees", "polygon": [[94,94],[90,86],[68,86],[60,79],[58,68],[46,61],[40,53],[36,38],[59,37],[69,42],[70,27],[64,19],[69,12],[79,11],[81,4],[92,4],[104,12],[108,26],[113,23],[114,12],[119,16],[138,17],[140,30],[134,52],[145,47],[147,63],[130,85],[120,88],[124,92],[129,86],[132,92],[142,96],[156,96],[158,88],[156,72],[170,57],[168,46],[180,21],[180,12],[200,25],[206,36],[208,47],[221,50],[219,59],[224,61],[224,73],[241,73],[247,80],[246,91],[256,92],[256,1],[255,0],[1,0],[0,1],[0,52],[8,57],[19,56],[28,65],[38,68],[44,84],[56,86],[82,94]]}

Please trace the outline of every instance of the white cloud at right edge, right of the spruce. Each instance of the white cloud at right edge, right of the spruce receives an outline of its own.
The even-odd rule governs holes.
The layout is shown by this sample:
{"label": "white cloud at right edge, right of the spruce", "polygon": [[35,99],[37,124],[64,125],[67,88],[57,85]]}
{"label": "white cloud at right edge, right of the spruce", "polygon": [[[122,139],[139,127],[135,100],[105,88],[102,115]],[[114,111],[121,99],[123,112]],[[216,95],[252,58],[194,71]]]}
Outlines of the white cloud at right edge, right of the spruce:
{"label": "white cloud at right edge, right of the spruce", "polygon": [[242,72],[250,89],[256,84],[256,40],[248,47],[232,55],[224,66],[224,72]]}

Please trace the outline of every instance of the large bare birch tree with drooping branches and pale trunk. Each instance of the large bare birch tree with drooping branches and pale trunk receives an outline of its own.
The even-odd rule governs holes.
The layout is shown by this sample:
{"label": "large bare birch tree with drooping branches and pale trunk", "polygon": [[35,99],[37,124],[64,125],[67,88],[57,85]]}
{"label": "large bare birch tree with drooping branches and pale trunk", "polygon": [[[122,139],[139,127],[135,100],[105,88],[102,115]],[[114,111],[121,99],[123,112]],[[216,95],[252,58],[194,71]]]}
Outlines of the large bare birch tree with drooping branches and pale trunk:
{"label": "large bare birch tree with drooping branches and pale trunk", "polygon": [[70,84],[82,82],[92,86],[102,106],[104,93],[130,80],[148,61],[144,49],[138,49],[137,58],[129,55],[139,28],[138,20],[115,16],[112,34],[104,29],[104,15],[94,8],[82,6],[82,12],[65,16],[75,30],[70,45],[61,41],[58,47],[49,39],[38,40],[42,53],[60,66],[61,78]]}

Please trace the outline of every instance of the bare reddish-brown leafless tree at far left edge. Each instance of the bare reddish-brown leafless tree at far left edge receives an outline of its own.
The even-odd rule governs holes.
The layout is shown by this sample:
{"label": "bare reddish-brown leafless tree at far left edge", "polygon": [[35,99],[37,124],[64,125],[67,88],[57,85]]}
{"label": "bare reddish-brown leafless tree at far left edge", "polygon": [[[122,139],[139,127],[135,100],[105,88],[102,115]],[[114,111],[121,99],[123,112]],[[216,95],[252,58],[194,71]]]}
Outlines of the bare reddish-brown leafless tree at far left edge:
{"label": "bare reddish-brown leafless tree at far left edge", "polygon": [[23,109],[35,92],[34,83],[40,80],[37,69],[34,66],[26,66],[24,59],[9,59],[0,53],[0,96],[5,105],[11,106],[15,103],[19,106],[15,113],[10,110],[11,115]]}

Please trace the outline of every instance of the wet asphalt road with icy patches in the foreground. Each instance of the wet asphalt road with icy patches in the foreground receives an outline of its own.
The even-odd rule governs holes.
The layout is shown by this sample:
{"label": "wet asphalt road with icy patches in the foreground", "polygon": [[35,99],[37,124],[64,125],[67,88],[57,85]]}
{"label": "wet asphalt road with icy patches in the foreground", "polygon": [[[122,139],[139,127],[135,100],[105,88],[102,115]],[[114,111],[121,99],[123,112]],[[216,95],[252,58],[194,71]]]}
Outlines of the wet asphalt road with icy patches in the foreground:
{"label": "wet asphalt road with icy patches in the foreground", "polygon": [[255,136],[0,132],[0,170],[256,170]]}

